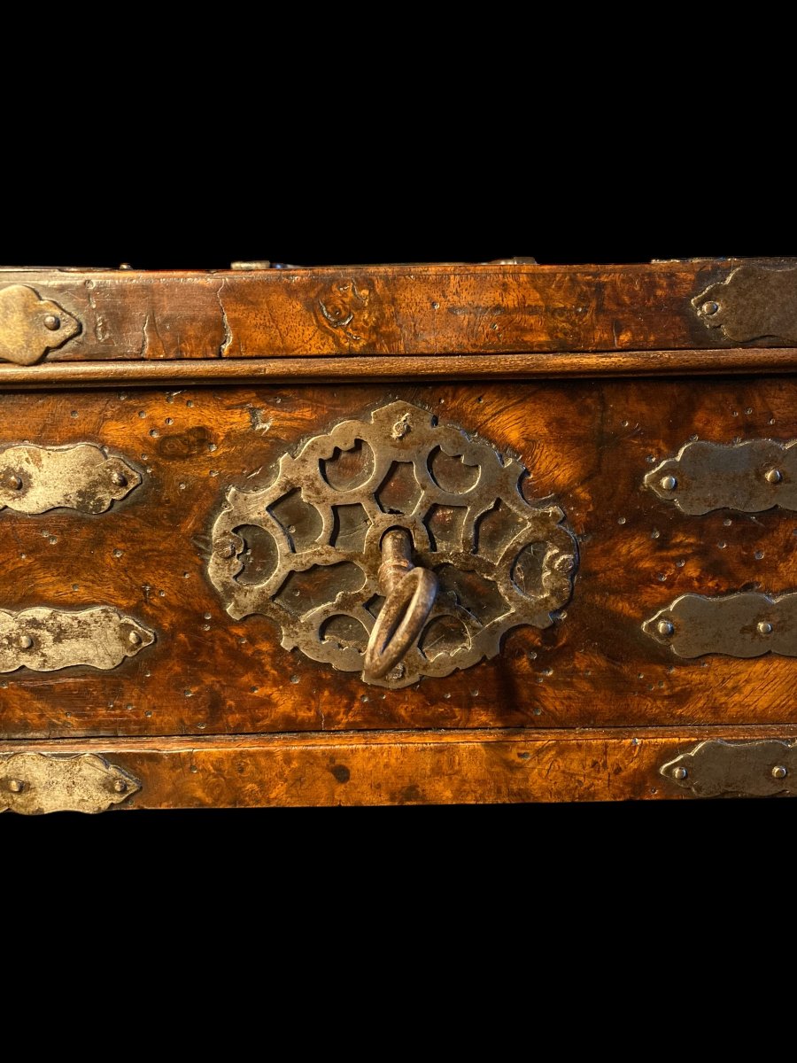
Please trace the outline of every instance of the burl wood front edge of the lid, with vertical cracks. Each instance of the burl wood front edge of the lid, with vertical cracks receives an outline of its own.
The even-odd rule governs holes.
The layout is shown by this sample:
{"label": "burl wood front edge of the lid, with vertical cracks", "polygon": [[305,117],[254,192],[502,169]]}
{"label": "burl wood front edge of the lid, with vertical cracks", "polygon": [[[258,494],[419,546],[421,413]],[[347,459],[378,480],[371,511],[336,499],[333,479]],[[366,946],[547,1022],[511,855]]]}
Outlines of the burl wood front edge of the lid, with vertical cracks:
{"label": "burl wood front edge of the lid, with vertical cracks", "polygon": [[341,354],[489,357],[511,351],[730,347],[718,330],[697,319],[691,300],[739,264],[32,270],[0,272],[0,286],[33,287],[82,323],[81,334],[48,355],[48,364]]}

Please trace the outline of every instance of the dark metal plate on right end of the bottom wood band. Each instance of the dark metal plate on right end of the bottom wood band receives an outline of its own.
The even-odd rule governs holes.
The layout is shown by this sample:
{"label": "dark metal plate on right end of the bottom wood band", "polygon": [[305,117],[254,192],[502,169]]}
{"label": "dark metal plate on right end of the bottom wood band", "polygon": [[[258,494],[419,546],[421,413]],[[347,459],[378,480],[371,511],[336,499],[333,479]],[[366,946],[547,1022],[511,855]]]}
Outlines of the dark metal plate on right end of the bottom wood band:
{"label": "dark metal plate on right end of the bottom wood band", "polygon": [[792,742],[700,742],[667,761],[659,773],[696,797],[771,797],[791,794],[797,781],[797,747]]}

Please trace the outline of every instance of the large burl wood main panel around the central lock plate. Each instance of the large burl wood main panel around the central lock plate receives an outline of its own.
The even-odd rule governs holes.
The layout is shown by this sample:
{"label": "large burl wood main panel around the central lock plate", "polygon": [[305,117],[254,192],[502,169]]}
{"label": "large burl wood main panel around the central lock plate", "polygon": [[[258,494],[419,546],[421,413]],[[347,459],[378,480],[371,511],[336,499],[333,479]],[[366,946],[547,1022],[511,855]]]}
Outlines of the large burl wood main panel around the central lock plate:
{"label": "large burl wood main panel around the central lock plate", "polygon": [[[482,434],[531,472],[578,537],[575,593],[554,627],[400,691],[233,622],[205,570],[224,489],[255,486],[286,450],[391,399]],[[413,728],[692,727],[797,722],[795,660],[681,660],[641,630],[677,595],[794,590],[797,514],[694,518],[642,489],[692,437],[797,436],[788,377],[524,384],[259,386],[0,395],[0,442],[95,442],[143,483],[99,517],[0,511],[6,609],[109,604],[157,632],[118,669],[0,681],[5,738]]]}

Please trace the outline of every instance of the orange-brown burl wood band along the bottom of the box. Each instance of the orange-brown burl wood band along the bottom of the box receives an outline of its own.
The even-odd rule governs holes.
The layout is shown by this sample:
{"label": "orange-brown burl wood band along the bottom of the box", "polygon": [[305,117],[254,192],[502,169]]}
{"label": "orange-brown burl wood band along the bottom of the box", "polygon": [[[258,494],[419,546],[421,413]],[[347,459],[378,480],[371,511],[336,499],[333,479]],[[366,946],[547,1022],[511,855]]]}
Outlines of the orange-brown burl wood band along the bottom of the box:
{"label": "orange-brown burl wood band along the bottom of the box", "polygon": [[659,770],[706,738],[794,740],[797,727],[96,739],[0,753],[99,754],[140,781],[122,809],[502,804],[689,797]]}

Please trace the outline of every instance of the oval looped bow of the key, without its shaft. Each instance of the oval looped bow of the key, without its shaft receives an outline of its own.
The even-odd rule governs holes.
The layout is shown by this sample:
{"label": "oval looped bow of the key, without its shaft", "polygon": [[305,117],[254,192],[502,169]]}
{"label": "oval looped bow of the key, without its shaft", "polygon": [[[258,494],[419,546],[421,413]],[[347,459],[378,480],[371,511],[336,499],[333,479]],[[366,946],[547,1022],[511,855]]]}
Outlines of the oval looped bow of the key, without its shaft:
{"label": "oval looped bow of the key, without its shaft", "polygon": [[437,576],[428,569],[410,569],[393,587],[368,640],[368,678],[381,679],[411,648],[431,612],[437,588]]}

